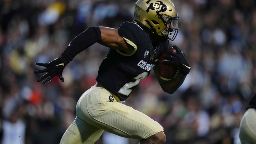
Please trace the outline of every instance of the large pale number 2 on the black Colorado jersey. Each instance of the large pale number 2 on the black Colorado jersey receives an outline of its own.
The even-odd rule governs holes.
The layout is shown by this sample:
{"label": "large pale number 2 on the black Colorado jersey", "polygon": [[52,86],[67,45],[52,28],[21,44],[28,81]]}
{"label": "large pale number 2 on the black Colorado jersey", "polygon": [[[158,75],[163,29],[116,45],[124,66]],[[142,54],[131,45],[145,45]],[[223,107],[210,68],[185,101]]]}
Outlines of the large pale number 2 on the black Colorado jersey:
{"label": "large pale number 2 on the black Colorado jersey", "polygon": [[132,90],[130,88],[138,85],[140,83],[140,81],[143,79],[143,78],[147,78],[148,76],[148,72],[144,72],[142,74],[139,74],[137,77],[135,77],[134,79],[136,79],[136,81],[134,82],[127,82],[118,92],[123,94],[123,95],[129,95]]}

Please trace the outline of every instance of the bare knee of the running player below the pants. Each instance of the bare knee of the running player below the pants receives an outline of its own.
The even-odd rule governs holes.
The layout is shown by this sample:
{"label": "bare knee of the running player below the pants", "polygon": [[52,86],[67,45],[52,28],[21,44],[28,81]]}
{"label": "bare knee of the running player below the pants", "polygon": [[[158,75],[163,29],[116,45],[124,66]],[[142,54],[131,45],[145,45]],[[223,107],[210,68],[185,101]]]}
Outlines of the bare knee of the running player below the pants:
{"label": "bare knee of the running player below the pants", "polygon": [[158,132],[146,139],[142,139],[140,141],[140,144],[146,144],[146,143],[163,144],[165,141],[166,141],[166,136],[164,132]]}

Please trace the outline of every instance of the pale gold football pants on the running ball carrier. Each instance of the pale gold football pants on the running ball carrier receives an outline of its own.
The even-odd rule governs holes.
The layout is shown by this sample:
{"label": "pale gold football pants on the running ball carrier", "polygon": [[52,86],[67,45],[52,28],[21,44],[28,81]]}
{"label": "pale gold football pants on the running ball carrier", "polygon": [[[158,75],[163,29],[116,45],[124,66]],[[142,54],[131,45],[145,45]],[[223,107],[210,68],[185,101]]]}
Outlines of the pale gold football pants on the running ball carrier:
{"label": "pale gold football pants on the running ball carrier", "polygon": [[76,118],[61,144],[93,144],[106,130],[125,138],[143,139],[163,127],[132,107],[122,104],[108,90],[92,86],[77,102]]}

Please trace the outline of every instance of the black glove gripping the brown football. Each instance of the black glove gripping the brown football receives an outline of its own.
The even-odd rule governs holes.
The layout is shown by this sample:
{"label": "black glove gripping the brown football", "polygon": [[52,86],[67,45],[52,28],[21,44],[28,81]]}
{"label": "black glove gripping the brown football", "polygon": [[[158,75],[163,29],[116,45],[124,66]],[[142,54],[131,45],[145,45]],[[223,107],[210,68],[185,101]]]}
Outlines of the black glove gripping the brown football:
{"label": "black glove gripping the brown football", "polygon": [[190,65],[184,53],[181,52],[180,48],[176,45],[172,46],[177,54],[172,51],[166,51],[163,58],[168,60],[163,60],[163,64],[174,64],[180,68],[180,73],[182,75],[187,75],[190,71]]}

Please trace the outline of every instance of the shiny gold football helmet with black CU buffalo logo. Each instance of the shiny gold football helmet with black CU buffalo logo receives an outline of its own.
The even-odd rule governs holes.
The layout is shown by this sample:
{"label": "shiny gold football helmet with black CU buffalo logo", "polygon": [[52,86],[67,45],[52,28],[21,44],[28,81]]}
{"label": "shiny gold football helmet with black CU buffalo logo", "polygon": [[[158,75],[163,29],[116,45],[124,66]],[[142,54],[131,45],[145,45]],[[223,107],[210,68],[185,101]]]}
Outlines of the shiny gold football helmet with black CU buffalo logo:
{"label": "shiny gold football helmet with black CU buffalo logo", "polygon": [[135,3],[134,21],[171,41],[179,30],[178,19],[175,6],[170,0],[138,0]]}

